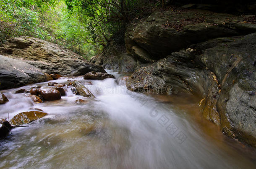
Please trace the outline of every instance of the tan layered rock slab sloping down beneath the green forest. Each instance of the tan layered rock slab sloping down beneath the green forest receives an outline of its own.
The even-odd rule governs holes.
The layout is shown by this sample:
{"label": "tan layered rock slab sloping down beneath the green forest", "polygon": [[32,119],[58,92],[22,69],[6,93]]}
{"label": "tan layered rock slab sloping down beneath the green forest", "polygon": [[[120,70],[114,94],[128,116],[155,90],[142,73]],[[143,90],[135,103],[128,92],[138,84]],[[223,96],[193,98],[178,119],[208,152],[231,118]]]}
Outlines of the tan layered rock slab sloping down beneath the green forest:
{"label": "tan layered rock slab sloping down beneath the green forest", "polygon": [[2,55],[20,59],[48,74],[84,75],[90,71],[106,73],[101,66],[89,63],[71,50],[28,36],[10,38],[0,50]]}

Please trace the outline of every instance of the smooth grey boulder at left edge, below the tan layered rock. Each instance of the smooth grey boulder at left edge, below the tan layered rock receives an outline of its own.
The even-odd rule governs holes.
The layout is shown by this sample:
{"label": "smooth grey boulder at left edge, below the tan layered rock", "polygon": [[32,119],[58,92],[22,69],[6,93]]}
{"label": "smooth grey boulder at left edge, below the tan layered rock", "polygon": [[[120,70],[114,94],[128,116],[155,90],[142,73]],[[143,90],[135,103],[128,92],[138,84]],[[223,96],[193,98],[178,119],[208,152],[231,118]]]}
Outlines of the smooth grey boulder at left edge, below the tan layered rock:
{"label": "smooth grey boulder at left edge, below the tan layered rock", "polygon": [[46,74],[29,63],[3,55],[0,61],[0,90],[47,81]]}

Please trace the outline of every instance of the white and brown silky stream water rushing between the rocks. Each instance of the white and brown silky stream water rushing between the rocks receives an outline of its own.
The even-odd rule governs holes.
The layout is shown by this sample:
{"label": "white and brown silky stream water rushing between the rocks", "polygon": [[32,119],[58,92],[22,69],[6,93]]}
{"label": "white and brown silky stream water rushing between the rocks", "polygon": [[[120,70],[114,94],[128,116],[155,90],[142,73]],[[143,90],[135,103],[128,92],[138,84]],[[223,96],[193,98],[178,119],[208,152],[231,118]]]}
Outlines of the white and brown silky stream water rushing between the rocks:
{"label": "white and brown silky stream water rushing between the rocks", "polygon": [[[34,103],[21,88],[2,91],[0,118],[40,108],[49,115],[0,141],[0,168],[44,169],[253,169],[255,151],[224,136],[201,117],[192,96],[157,96],[128,91],[116,79],[81,81],[88,99],[64,87],[59,101]],[[67,79],[54,80],[66,83]],[[77,105],[81,98],[88,101]]]}

